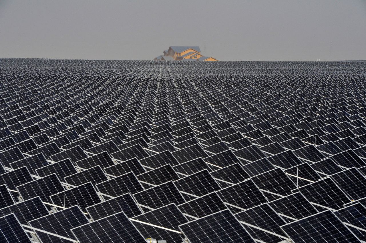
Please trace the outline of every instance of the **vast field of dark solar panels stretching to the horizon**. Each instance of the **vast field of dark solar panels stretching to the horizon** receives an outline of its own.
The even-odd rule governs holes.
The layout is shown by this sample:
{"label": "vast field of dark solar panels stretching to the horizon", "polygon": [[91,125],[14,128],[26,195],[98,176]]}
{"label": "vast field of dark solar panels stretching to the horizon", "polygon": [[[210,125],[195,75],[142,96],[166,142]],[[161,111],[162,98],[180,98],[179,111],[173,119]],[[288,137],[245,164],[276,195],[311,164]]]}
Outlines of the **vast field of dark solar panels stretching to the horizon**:
{"label": "vast field of dark solar panels stretching to the horizon", "polygon": [[1,242],[366,242],[366,62],[0,59]]}

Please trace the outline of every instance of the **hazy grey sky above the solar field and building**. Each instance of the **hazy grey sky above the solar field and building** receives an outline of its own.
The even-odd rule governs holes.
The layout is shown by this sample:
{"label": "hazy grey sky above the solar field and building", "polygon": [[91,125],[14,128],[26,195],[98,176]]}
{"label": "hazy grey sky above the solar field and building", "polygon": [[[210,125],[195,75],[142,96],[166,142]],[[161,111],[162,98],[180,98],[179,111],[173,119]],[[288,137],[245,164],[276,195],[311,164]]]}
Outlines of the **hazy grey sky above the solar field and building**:
{"label": "hazy grey sky above the solar field and building", "polygon": [[366,59],[366,0],[0,0],[0,57]]}

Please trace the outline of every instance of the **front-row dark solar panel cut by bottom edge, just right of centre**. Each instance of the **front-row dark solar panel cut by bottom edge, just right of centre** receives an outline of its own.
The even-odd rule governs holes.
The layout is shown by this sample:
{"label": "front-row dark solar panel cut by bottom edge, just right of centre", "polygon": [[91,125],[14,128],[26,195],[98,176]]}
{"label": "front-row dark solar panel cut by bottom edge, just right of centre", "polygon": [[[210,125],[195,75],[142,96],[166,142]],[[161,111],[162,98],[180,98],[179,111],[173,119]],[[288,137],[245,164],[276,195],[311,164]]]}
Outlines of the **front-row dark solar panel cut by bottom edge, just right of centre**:
{"label": "front-row dark solar panel cut by bottom edge, just right of centre", "polygon": [[179,228],[190,242],[255,242],[228,209],[179,225]]}

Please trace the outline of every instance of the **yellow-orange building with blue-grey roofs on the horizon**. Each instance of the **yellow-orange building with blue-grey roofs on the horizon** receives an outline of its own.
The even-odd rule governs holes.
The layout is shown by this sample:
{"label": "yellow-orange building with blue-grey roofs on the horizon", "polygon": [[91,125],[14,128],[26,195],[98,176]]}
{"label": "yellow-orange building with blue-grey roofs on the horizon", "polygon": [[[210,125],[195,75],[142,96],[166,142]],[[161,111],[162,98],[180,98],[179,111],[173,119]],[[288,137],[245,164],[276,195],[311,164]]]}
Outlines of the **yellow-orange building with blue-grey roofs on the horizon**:
{"label": "yellow-orange building with blue-grey roofs on the horizon", "polygon": [[155,57],[154,60],[183,61],[186,59],[191,59],[192,61],[218,61],[213,57],[204,57],[201,54],[201,49],[199,49],[199,46],[169,46],[169,49],[164,50],[163,54],[164,55]]}

